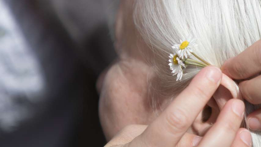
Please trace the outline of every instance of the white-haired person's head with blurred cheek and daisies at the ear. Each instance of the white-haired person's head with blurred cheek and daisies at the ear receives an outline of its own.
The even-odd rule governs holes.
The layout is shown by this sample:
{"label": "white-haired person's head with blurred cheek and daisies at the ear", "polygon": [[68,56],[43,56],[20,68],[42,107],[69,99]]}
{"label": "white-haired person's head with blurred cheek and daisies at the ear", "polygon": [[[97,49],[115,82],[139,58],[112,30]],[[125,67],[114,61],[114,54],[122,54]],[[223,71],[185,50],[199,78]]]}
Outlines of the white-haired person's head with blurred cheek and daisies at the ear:
{"label": "white-haired person's head with blurred cheek and daisies at the ear", "polygon": [[[121,1],[115,23],[119,59],[100,78],[106,137],[129,124],[149,124],[201,69],[186,66],[181,81],[176,81],[168,65],[172,46],[194,38],[198,46],[193,52],[221,67],[259,40],[260,16],[259,0]],[[221,86],[216,97],[233,97],[228,87]],[[188,131],[203,135],[223,104],[212,98]]]}

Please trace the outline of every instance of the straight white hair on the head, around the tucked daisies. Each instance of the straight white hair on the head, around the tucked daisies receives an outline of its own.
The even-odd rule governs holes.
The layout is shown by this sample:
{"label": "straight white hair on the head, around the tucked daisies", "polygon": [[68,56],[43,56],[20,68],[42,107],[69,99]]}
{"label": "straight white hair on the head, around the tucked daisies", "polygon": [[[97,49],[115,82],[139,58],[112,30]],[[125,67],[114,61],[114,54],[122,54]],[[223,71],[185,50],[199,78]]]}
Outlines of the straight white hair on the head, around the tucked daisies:
{"label": "straight white hair on the head, around the tucked daisies", "polygon": [[[168,66],[171,46],[194,36],[194,50],[212,65],[221,67],[260,39],[260,0],[135,0],[134,23],[153,51],[152,61],[159,85],[175,95],[186,87],[200,69],[187,67],[176,82]],[[177,86],[183,85],[183,86]],[[171,89],[171,90],[168,90]],[[246,102],[247,114],[255,107]],[[259,132],[252,132],[253,147],[261,146]]]}

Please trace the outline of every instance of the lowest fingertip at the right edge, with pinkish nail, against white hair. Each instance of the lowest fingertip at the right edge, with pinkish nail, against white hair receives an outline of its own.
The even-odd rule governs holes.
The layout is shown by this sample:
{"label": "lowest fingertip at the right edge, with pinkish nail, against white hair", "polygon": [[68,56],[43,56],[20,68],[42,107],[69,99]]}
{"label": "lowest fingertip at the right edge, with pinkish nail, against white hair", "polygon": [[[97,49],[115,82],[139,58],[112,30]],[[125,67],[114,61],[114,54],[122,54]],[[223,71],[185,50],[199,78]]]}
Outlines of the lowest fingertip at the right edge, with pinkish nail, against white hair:
{"label": "lowest fingertip at the right edge, with pinkish nail, against white hair", "polygon": [[250,130],[261,130],[261,109],[250,113],[247,117],[247,125]]}

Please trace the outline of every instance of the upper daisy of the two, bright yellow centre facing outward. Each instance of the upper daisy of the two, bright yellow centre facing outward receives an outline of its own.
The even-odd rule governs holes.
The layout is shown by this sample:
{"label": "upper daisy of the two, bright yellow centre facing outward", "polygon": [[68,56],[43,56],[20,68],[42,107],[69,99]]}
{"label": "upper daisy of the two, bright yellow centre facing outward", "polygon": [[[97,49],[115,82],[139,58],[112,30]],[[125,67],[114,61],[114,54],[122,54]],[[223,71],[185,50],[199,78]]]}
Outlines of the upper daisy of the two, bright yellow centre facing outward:
{"label": "upper daisy of the two, bright yellow centre facing outward", "polygon": [[188,58],[188,55],[191,55],[191,53],[193,52],[193,48],[197,46],[197,44],[195,43],[196,40],[193,39],[191,36],[188,37],[187,40],[179,40],[180,44],[175,44],[174,46],[172,46],[173,49],[177,49],[178,50],[178,54],[180,55],[180,58]]}

